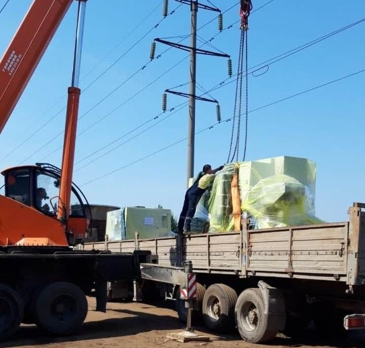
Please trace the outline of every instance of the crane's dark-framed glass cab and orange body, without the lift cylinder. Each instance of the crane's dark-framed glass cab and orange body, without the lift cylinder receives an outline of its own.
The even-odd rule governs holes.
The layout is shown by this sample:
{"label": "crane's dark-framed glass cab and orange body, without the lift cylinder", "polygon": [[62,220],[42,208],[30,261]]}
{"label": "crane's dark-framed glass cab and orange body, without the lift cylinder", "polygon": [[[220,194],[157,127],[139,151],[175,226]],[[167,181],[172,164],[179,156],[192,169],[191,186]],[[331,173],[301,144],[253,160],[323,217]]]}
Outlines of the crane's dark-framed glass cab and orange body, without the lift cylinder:
{"label": "crane's dark-framed glass cab and orange body, without the lift cylinder", "polygon": [[75,184],[68,220],[57,219],[59,168],[37,164],[8,168],[2,174],[5,196],[0,196],[0,245],[69,246],[85,238],[91,212]]}

